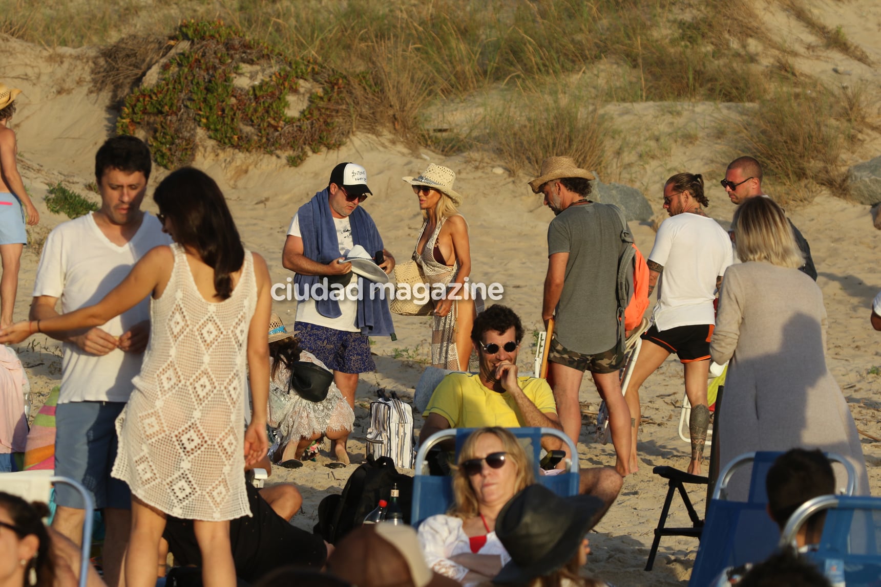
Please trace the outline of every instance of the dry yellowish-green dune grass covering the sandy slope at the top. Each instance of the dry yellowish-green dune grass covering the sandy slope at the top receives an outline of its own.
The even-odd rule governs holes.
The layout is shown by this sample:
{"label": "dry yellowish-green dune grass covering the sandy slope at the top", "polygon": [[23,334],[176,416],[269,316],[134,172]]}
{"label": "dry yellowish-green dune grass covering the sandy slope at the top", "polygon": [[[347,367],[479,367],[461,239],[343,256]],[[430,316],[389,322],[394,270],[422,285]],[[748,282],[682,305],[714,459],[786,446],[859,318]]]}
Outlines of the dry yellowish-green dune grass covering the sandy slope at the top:
{"label": "dry yellowish-green dune grass covering the sandy slope at the top", "polygon": [[[776,2],[827,47],[868,62],[801,0]],[[338,73],[344,135],[379,128],[445,154],[477,147],[512,170],[566,152],[603,172],[603,100],[716,100],[758,105],[737,122],[738,136],[772,175],[792,185],[822,183],[824,175],[838,177],[848,146],[841,129],[854,128],[860,115],[854,96],[806,91],[788,48],[761,25],[755,0],[0,0],[0,31],[49,46],[168,36],[184,18],[221,18],[287,60]],[[788,70],[759,64],[759,46]],[[147,62],[118,63],[127,71],[119,83],[137,79]],[[586,72],[592,92],[583,80],[573,83]],[[467,127],[426,128],[431,106],[489,92],[511,99],[486,106]],[[581,104],[567,98],[574,93]],[[288,159],[299,163],[306,152]]]}

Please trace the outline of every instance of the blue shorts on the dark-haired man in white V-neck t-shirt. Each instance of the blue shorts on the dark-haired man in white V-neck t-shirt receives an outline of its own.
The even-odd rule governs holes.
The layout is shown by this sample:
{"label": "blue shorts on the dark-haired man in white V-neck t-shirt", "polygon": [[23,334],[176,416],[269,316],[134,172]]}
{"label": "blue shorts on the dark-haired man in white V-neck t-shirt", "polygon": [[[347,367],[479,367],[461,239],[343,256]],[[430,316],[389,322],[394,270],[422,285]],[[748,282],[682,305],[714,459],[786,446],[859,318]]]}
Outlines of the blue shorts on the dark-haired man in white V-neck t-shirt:
{"label": "blue shorts on the dark-haired man in white V-neck t-shirt", "polygon": [[[124,401],[71,401],[56,407],[56,475],[82,483],[96,508],[131,508],[129,486],[110,476],[116,460],[116,417],[123,407]],[[56,503],[83,507],[78,492],[63,483],[56,486]]]}

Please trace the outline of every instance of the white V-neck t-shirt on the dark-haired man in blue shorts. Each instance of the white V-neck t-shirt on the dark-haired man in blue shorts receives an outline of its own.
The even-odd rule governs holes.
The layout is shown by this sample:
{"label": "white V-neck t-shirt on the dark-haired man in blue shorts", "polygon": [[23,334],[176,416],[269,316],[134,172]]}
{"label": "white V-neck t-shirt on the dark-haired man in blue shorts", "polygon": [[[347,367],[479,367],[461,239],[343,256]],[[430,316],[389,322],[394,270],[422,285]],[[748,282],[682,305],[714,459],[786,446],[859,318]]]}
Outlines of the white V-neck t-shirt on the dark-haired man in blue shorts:
{"label": "white V-neck t-shirt on the dark-haired man in blue shorts", "polygon": [[[117,246],[104,236],[92,214],[58,224],[46,238],[33,296],[58,297],[61,312],[96,304],[129,275],[137,260],[154,246],[168,245],[156,216],[144,213],[135,236]],[[150,297],[100,327],[119,336],[138,322],[150,319]],[[86,353],[72,342],[62,345],[61,394],[58,403],[70,401],[128,401],[131,379],[141,371],[143,354],[114,349],[107,355]]]}

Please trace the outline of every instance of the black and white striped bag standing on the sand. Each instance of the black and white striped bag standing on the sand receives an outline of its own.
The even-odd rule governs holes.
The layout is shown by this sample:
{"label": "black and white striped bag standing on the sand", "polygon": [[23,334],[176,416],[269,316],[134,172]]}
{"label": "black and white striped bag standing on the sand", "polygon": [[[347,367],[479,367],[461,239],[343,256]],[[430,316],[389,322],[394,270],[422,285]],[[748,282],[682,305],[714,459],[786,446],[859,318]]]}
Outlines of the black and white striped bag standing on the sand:
{"label": "black and white striped bag standing on the sand", "polygon": [[374,459],[389,457],[396,466],[411,469],[416,460],[413,408],[398,400],[395,392],[380,389],[376,394],[378,399],[370,402],[366,453]]}

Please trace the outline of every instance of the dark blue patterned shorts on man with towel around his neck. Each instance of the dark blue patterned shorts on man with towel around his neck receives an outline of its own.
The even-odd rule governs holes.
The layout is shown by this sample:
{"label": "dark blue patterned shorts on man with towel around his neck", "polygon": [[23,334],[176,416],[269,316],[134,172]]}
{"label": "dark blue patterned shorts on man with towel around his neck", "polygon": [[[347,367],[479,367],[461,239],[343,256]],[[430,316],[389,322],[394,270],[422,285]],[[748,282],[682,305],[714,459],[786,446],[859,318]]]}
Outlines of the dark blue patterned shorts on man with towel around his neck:
{"label": "dark blue patterned shorts on man with towel around his neck", "polygon": [[295,325],[300,349],[315,355],[330,371],[367,373],[376,370],[370,355],[370,338],[366,334],[320,327],[308,322]]}

